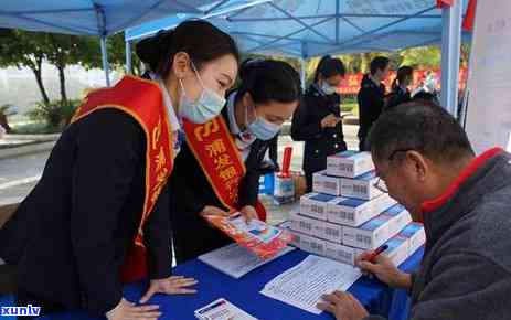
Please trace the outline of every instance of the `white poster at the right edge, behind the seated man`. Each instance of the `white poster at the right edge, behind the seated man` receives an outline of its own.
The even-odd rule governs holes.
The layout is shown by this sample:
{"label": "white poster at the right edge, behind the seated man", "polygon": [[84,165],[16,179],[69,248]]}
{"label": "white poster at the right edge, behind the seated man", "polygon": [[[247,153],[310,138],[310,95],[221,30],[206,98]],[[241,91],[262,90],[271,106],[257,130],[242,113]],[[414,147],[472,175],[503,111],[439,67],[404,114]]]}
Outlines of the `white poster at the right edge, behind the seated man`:
{"label": "white poster at the right edge, behind the seated man", "polygon": [[476,153],[508,148],[511,134],[511,1],[478,1],[465,126]]}

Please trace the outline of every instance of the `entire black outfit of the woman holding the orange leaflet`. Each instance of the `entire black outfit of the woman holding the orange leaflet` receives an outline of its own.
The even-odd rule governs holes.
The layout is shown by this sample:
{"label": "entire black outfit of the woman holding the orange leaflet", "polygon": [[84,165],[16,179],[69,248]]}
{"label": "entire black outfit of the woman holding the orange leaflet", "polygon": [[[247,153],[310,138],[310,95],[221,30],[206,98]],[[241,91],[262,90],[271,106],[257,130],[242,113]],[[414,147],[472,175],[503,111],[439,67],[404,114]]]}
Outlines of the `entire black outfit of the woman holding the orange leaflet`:
{"label": "entire black outfit of the woman holding the orange leaflet", "polygon": [[[227,107],[222,116],[230,124]],[[259,192],[260,163],[270,141],[255,140],[245,161],[246,174],[238,190],[239,206],[253,205]],[[192,178],[191,178],[192,177]],[[204,206],[212,205],[223,210],[201,166],[188,143],[183,143],[175,158],[170,179],[172,242],[178,264],[227,245],[232,241],[221,231],[210,226],[200,215]]]}

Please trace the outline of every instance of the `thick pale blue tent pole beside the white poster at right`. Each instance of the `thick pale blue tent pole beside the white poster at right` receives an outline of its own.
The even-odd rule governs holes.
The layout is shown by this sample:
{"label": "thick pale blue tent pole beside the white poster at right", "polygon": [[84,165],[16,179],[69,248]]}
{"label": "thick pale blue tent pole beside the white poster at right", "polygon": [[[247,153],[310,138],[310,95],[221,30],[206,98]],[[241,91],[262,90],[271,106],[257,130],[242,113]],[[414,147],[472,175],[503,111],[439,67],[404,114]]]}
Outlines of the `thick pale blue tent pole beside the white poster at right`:
{"label": "thick pale blue tent pole beside the white poster at right", "polygon": [[459,57],[461,46],[461,0],[453,1],[441,12],[441,96],[440,102],[453,116],[458,110]]}

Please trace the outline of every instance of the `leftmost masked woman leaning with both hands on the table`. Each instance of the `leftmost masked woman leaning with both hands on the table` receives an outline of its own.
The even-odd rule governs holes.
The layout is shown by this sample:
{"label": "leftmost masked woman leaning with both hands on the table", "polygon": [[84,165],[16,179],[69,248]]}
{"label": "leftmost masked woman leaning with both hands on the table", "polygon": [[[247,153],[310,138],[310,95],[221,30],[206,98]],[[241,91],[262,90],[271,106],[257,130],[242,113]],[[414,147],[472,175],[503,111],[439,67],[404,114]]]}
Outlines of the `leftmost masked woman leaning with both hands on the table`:
{"label": "leftmost masked woman leaning with both hands on the table", "polygon": [[220,114],[238,52],[204,21],[183,22],[138,52],[153,81],[126,76],[89,94],[41,181],[0,230],[0,257],[18,265],[19,306],[157,319],[158,306],[123,298],[124,282],[149,277],[140,303],[156,292],[194,292],[194,279],[171,276],[167,180],[180,120]]}

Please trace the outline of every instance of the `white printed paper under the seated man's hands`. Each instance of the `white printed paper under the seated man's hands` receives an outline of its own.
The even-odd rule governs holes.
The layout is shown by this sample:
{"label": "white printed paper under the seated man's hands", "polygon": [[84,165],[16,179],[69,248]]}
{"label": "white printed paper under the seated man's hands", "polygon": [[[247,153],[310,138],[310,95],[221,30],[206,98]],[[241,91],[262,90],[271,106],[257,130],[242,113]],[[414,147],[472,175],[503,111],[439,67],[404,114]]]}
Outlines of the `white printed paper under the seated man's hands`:
{"label": "white printed paper under the seated man's hands", "polygon": [[350,265],[308,256],[266,284],[260,294],[319,314],[321,310],[316,305],[321,301],[321,296],[334,290],[345,291],[361,275],[358,268]]}

